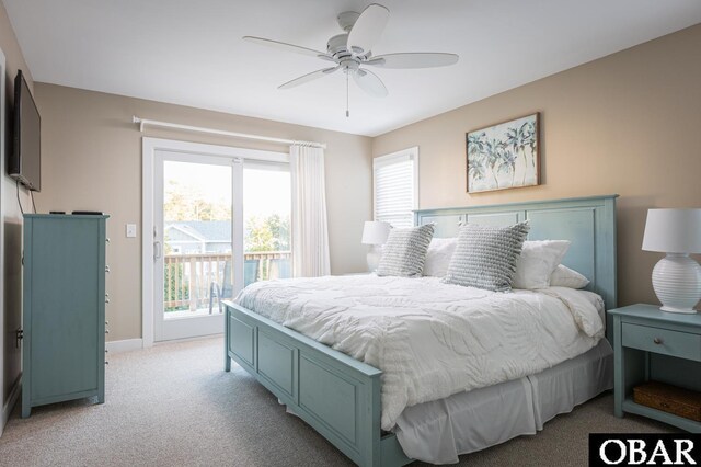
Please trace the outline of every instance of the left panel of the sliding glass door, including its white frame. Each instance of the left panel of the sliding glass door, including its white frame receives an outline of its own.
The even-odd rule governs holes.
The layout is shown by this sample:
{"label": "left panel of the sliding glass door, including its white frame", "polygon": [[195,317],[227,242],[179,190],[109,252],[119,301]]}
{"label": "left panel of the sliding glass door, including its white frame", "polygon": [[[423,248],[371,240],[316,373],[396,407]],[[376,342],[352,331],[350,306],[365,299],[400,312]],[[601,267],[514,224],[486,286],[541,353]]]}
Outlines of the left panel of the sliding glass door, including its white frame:
{"label": "left panel of the sliding glass door, including its white frame", "polygon": [[241,164],[164,151],[157,169],[154,340],[220,333],[220,299],[231,299],[242,282],[233,209]]}

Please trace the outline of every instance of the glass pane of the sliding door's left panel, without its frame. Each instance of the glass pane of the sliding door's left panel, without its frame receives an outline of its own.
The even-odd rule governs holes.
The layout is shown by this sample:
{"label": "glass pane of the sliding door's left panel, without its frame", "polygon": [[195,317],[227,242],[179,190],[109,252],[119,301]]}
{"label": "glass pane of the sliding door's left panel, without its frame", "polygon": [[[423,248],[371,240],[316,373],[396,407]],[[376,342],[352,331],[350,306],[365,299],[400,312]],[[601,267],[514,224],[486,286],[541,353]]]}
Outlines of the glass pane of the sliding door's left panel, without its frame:
{"label": "glass pane of the sliding door's left panel, without its frame", "polygon": [[231,298],[231,168],[163,163],[164,318],[210,315]]}

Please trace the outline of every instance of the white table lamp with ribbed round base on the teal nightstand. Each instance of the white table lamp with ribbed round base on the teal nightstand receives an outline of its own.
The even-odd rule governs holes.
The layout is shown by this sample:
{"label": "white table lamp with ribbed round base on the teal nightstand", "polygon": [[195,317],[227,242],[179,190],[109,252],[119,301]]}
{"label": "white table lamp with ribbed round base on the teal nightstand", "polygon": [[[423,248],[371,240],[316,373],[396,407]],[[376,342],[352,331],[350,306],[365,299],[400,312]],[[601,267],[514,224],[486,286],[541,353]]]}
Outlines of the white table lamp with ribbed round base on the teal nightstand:
{"label": "white table lamp with ribbed round base on the teal nightstand", "polygon": [[696,312],[701,299],[701,209],[648,209],[643,250],[667,253],[653,270],[653,288],[663,311]]}

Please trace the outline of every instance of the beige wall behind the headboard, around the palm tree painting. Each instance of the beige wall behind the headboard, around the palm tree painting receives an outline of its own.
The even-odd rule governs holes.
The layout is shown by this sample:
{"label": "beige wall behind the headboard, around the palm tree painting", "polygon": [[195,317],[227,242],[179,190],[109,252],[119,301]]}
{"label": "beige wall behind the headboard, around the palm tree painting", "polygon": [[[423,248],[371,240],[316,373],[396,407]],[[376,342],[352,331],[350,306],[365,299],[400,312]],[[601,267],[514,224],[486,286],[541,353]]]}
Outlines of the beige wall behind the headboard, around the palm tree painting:
{"label": "beige wall behind the headboard, around the palm tree painting", "polygon": [[[466,132],[541,112],[542,185],[466,193]],[[372,140],[420,147],[420,207],[618,193],[619,305],[656,303],[641,251],[648,207],[701,207],[701,25]]]}

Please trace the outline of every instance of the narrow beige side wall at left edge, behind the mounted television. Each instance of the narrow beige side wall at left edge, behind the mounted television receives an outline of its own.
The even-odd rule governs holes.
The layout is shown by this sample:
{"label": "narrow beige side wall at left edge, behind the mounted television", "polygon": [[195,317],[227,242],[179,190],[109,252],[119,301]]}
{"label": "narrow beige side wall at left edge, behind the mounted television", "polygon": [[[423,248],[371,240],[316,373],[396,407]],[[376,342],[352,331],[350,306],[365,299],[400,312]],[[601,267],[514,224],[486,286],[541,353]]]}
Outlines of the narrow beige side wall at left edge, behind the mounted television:
{"label": "narrow beige side wall at left edge, behind the mounted television", "polygon": [[[24,72],[25,79],[32,89],[34,81],[32,73],[24,61],[20,44],[14,35],[14,30],[10,24],[10,19],[2,2],[0,2],[0,49],[5,56],[5,98],[8,102],[7,109],[0,109],[5,112],[5,117],[11,115],[12,101],[14,98],[14,77],[19,69]],[[2,132],[0,132],[1,134]],[[10,133],[4,135],[9,138]],[[21,353],[15,346],[15,331],[22,326],[22,214],[16,202],[16,189],[14,181],[5,174],[4,150],[11,149],[7,141],[0,141],[2,151],[0,158],[2,168],[0,173],[0,209],[2,216],[2,235],[0,236],[0,249],[4,264],[0,264],[0,281],[2,281],[3,296],[0,297],[0,333],[2,339],[2,362],[0,363],[0,390],[2,391],[3,406],[8,402],[10,391],[18,381],[22,371]],[[20,187],[20,198],[23,204],[27,205],[26,191]],[[1,432],[2,430],[0,430]]]}

